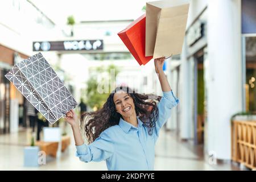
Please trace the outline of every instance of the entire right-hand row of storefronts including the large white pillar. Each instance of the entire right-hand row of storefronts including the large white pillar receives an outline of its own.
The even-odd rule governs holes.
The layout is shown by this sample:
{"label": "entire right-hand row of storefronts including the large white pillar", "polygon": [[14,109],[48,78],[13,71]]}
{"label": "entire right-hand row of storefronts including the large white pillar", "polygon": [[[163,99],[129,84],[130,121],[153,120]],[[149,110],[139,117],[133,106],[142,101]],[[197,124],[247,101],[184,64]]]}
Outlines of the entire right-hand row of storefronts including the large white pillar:
{"label": "entire right-hand row of storefronts including the large white pillar", "polygon": [[221,160],[231,158],[232,116],[255,111],[255,7],[250,0],[191,1],[174,71],[181,104],[173,129]]}

